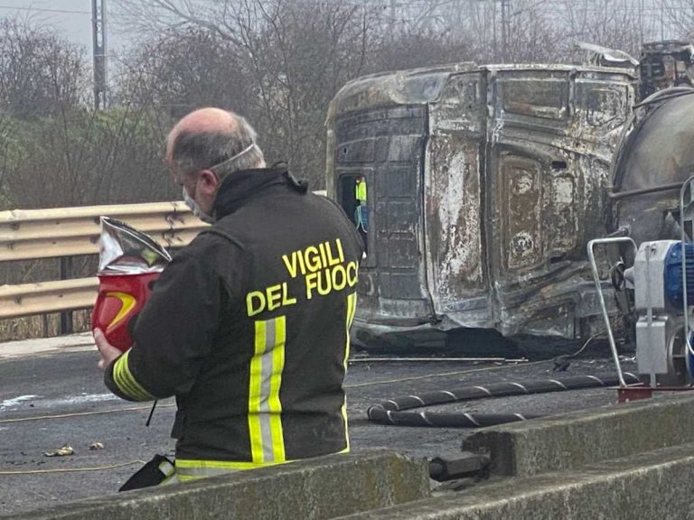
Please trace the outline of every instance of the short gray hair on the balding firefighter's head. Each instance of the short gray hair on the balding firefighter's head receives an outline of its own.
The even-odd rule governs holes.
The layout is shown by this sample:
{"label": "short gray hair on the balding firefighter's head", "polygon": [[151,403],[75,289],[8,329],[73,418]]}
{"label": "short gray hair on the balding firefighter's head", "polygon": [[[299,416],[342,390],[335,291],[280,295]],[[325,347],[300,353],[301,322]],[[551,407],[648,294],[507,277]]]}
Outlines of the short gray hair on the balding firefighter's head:
{"label": "short gray hair on the balding firefighter's head", "polygon": [[234,115],[237,126],[232,132],[189,132],[176,135],[172,159],[183,173],[214,171],[223,179],[231,172],[259,168],[265,157],[256,139],[258,135],[242,116]]}

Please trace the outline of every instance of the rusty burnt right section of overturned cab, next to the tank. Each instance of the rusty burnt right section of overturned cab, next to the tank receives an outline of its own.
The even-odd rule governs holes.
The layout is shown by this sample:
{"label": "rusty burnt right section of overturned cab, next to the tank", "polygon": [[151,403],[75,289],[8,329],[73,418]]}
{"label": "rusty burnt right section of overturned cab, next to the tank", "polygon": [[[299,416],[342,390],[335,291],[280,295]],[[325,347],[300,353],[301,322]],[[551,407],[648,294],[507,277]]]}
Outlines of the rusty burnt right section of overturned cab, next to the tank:
{"label": "rusty burnt right section of overturned cab, next to the tank", "polygon": [[487,231],[504,335],[579,338],[595,315],[586,243],[605,234],[610,159],[633,99],[621,76],[489,70]]}

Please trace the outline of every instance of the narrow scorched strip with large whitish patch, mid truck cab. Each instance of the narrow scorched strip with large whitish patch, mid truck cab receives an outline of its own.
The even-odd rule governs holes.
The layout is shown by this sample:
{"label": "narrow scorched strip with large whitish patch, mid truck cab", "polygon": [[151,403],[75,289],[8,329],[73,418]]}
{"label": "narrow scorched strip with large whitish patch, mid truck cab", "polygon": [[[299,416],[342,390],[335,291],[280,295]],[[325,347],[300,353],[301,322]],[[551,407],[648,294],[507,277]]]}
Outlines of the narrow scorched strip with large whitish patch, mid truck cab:
{"label": "narrow scorched strip with large whitish patch, mid truck cab", "polygon": [[[429,106],[425,222],[428,282],[436,312],[462,308],[488,323],[483,255],[485,85],[479,71],[453,76]],[[474,301],[472,301],[474,300]]]}

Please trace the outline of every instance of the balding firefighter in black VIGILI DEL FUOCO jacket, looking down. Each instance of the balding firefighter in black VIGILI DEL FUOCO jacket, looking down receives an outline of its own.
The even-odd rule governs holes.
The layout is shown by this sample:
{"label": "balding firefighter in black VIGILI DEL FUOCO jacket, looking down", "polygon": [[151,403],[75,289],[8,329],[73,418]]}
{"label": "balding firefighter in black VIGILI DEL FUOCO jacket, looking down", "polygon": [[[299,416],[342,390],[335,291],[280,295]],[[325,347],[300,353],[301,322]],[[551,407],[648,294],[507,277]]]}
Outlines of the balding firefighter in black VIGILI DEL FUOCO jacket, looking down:
{"label": "balding firefighter in black VIGILI DEL FUOCO jacket, looking down", "polygon": [[132,348],[121,355],[94,335],[114,394],[176,397],[175,468],[160,458],[155,469],[185,481],[348,451],[342,380],[362,255],[356,229],[286,166],[266,167],[236,114],[183,117],[166,162],[212,226],[164,270]]}

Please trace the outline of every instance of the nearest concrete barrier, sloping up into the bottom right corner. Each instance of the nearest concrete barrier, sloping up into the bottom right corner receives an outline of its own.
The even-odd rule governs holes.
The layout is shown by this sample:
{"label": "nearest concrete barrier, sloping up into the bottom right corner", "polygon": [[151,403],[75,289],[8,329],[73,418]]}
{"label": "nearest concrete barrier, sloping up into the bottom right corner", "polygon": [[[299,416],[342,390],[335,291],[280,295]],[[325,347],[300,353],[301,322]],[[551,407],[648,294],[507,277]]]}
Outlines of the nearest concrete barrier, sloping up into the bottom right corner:
{"label": "nearest concrete barrier, sloping up into the bottom right corner", "polygon": [[694,444],[578,471],[502,478],[464,493],[345,516],[342,520],[689,520]]}

